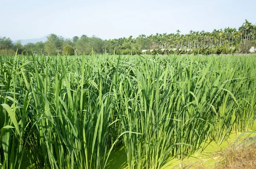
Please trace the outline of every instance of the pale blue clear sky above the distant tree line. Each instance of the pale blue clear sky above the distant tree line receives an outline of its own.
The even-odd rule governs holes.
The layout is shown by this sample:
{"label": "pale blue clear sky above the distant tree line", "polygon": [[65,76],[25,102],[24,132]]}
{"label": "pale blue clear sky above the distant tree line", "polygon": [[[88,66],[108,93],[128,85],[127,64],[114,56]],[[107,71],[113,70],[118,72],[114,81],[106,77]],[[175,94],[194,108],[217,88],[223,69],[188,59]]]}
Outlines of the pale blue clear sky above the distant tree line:
{"label": "pale blue clear sky above the distant tree line", "polygon": [[256,0],[0,0],[0,36],[12,40],[209,31],[256,23]]}

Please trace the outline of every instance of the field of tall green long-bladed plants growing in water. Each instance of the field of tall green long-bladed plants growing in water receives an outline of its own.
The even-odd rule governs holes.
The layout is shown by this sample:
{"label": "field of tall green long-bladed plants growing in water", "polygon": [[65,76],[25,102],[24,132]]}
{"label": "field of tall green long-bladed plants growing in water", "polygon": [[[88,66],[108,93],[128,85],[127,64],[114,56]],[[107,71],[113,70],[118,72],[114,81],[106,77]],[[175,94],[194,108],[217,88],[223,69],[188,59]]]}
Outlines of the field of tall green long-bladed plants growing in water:
{"label": "field of tall green long-bladed plants growing in water", "polygon": [[160,169],[256,130],[256,56],[0,56],[0,167]]}

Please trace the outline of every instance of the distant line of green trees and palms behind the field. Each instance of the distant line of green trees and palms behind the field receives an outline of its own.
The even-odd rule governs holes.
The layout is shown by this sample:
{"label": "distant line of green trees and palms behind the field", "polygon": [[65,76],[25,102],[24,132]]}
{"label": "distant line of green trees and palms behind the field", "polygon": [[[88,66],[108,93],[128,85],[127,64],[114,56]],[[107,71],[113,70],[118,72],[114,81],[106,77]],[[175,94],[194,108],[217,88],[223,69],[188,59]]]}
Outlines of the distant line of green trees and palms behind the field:
{"label": "distant line of green trees and palms behind the field", "polygon": [[[133,38],[132,36],[119,39],[102,40],[99,37],[75,36],[72,39],[58,37],[50,34],[47,41],[27,43],[22,46],[20,41],[13,43],[10,38],[0,37],[0,53],[30,55],[56,55],[66,54],[64,46],[71,46],[75,54],[94,53],[108,54],[229,54],[248,53],[252,46],[256,46],[256,25],[248,20],[237,30],[236,28],[214,29],[212,32],[194,32],[180,34],[177,30],[172,34],[144,34]],[[149,49],[154,49],[149,51]],[[162,50],[161,50],[162,49]],[[163,50],[165,49],[165,50]],[[177,49],[177,50],[169,50]],[[191,50],[187,50],[191,49]],[[31,52],[32,51],[32,52]]]}

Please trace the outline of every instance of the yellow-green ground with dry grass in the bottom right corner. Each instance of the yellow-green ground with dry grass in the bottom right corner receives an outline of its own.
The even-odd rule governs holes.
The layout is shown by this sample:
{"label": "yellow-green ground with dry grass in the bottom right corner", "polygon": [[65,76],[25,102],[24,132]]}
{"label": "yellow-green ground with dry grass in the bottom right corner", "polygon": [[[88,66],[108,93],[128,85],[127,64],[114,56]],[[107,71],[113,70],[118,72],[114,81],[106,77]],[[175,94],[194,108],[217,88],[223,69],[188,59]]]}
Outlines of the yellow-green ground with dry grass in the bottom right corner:
{"label": "yellow-green ground with dry grass in the bottom right corner", "polygon": [[[233,139],[226,140],[222,146],[212,142],[201,154],[195,153],[183,161],[172,160],[175,165],[167,166],[166,169],[256,169],[255,133],[243,135],[236,140],[235,134],[231,136]],[[211,149],[214,146],[217,150],[215,152]]]}

